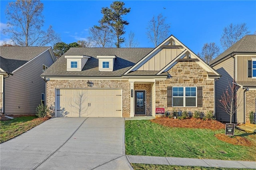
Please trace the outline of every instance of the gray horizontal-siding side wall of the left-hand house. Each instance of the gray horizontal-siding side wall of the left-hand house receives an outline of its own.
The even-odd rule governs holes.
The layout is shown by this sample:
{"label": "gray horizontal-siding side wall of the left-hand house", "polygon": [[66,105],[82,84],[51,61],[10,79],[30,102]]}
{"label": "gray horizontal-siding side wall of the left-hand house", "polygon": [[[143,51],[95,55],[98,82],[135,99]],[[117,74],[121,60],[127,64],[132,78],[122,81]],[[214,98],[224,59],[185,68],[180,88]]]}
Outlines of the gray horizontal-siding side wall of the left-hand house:
{"label": "gray horizontal-siding side wall of the left-hand house", "polygon": [[31,114],[41,103],[45,93],[45,82],[40,77],[43,64],[50,67],[54,63],[47,50],[5,79],[5,113]]}

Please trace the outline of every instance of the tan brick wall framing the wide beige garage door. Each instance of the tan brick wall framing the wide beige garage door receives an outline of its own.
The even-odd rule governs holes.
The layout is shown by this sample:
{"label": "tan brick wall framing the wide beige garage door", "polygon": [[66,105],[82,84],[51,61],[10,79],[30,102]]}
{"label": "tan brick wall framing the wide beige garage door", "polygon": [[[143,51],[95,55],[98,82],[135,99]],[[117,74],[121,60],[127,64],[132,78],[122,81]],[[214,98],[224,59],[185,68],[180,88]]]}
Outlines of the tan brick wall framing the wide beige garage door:
{"label": "tan brick wall framing the wide beige garage door", "polygon": [[62,88],[105,88],[122,89],[122,117],[130,117],[130,83],[128,80],[92,80],[93,87],[87,86],[86,80],[50,80],[47,82],[47,105],[55,105],[55,89]]}

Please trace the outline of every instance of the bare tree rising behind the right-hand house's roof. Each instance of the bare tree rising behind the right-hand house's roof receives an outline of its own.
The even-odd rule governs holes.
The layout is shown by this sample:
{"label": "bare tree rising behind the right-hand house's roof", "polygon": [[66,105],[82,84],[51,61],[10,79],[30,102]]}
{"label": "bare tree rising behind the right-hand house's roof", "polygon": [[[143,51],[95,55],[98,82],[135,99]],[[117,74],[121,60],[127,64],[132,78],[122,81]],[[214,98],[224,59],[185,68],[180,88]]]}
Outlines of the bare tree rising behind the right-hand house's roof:
{"label": "bare tree rising behind the right-hand house's roof", "polygon": [[231,47],[234,43],[238,42],[241,38],[249,34],[246,23],[241,24],[230,24],[224,27],[222,36],[220,38],[220,43],[224,50]]}

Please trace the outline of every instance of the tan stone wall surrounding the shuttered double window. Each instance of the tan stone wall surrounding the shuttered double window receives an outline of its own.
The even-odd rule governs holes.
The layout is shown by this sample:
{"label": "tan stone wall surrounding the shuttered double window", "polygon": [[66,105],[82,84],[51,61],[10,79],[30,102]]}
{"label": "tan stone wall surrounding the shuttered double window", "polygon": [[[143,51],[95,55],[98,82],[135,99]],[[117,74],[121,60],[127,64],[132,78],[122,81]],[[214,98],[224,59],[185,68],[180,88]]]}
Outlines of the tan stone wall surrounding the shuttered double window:
{"label": "tan stone wall surrounding the shuttered double window", "polygon": [[[214,79],[207,79],[206,71],[194,61],[178,62],[168,71],[167,80],[156,80],[156,107],[165,111],[214,111]],[[203,107],[167,107],[167,87],[202,87]]]}

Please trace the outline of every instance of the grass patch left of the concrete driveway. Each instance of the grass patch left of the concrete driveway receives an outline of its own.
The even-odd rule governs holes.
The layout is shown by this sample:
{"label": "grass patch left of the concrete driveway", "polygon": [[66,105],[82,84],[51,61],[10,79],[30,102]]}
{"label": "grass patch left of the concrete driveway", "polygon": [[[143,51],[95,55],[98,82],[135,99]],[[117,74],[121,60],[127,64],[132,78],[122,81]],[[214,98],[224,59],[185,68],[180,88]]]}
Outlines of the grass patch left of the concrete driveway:
{"label": "grass patch left of the concrete driveway", "polygon": [[[36,116],[16,117],[8,121],[0,121],[0,143],[10,140],[47,119],[36,119]],[[32,121],[33,120],[33,121]]]}

